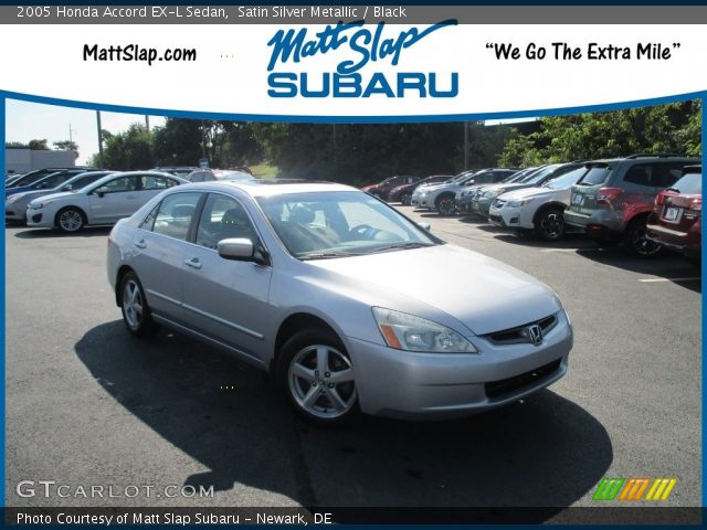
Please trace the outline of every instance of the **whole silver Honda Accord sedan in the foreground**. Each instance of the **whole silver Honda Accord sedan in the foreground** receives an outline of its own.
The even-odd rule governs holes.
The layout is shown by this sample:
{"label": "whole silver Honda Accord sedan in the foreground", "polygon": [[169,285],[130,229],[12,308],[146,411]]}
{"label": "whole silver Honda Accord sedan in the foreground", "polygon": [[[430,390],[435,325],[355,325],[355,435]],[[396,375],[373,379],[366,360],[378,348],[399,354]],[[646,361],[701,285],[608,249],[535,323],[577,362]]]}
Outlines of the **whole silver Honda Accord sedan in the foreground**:
{"label": "whole silver Honda Accord sedan in the foreground", "polygon": [[176,187],[115,225],[107,264],[128,331],[234,353],[319,423],[505,405],[560,379],[572,347],[546,285],[341,184]]}

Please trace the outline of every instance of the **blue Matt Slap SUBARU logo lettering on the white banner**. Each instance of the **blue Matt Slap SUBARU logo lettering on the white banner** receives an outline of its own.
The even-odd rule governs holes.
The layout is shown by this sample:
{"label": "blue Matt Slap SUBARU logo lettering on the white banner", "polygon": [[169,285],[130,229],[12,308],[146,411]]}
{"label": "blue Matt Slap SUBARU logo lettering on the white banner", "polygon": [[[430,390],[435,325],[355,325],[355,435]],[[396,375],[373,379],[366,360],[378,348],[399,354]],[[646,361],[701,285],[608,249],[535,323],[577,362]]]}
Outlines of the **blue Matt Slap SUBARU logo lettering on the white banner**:
{"label": "blue Matt Slap SUBARU logo lettering on the white banner", "polygon": [[[267,43],[273,52],[267,65],[267,94],[271,97],[456,97],[458,73],[449,77],[436,72],[365,72],[369,63],[397,66],[404,50],[442,28],[456,25],[445,20],[423,30],[410,28],[395,34],[384,22],[374,29],[363,21],[338,22],[323,31],[307,34],[307,29],[278,30]],[[335,72],[283,72],[292,63],[315,55],[339,52],[346,59]],[[291,66],[292,70],[295,70]],[[441,78],[442,77],[442,78]]]}

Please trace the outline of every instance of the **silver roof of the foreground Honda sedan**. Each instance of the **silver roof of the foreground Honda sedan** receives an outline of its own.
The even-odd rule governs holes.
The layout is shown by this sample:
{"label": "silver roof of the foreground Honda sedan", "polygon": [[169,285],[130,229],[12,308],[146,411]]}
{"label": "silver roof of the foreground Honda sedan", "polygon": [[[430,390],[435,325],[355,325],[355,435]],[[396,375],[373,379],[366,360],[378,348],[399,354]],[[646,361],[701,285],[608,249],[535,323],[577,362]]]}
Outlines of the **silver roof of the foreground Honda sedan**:
{"label": "silver roof of the foreground Honda sedan", "polygon": [[362,191],[346,184],[295,179],[217,180],[210,182],[192,182],[187,186],[180,186],[179,188],[179,191],[199,189],[204,191],[226,192],[238,189],[254,198],[327,191],[356,191],[363,193]]}

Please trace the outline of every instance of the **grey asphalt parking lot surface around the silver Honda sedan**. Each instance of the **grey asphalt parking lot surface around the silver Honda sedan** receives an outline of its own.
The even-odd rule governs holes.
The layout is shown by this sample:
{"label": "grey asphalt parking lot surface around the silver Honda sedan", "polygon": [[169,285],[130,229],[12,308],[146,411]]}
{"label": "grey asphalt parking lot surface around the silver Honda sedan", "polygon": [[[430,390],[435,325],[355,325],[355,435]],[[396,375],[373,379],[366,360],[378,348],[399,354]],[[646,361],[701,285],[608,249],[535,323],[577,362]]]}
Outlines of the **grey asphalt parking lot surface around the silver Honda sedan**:
{"label": "grey asphalt parking lot surface around the silver Honda sedan", "polygon": [[[108,229],[65,236],[7,226],[6,505],[559,513],[597,506],[603,477],[676,477],[662,506],[701,505],[699,269],[675,255],[641,261],[579,236],[550,245],[475,218],[401,210],[559,294],[576,333],[564,379],[461,421],[314,427],[264,375],[217,350],[167,331],[148,342],[128,336],[106,279]],[[21,497],[21,480],[156,489],[149,498]],[[213,486],[214,495],[160,495],[167,485]]]}

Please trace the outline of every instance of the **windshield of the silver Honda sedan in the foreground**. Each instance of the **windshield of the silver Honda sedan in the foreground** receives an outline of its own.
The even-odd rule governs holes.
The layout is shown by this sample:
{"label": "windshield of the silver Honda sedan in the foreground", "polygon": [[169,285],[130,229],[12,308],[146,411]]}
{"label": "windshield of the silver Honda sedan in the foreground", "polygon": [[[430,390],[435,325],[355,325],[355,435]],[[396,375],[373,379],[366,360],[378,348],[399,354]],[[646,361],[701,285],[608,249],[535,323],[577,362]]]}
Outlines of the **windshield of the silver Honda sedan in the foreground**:
{"label": "windshield of the silver Honda sedan in the foreground", "polygon": [[357,191],[292,193],[257,199],[287,251],[324,259],[440,243],[395,210]]}

